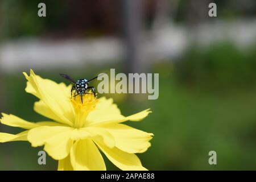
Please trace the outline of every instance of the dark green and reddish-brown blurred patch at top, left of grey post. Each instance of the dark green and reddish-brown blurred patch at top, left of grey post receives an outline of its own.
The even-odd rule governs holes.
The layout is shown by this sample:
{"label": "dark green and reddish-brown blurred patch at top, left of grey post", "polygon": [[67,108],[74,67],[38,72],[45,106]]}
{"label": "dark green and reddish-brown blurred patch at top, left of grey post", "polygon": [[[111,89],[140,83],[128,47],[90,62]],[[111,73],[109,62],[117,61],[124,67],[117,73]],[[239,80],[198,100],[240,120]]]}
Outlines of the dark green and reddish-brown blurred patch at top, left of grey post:
{"label": "dark green and reddish-brown blurred patch at top, left of grey post", "polygon": [[[118,30],[118,3],[109,1],[51,1],[45,18],[38,17],[39,0],[0,1],[0,38],[38,36],[67,38],[112,35]],[[2,19],[1,18],[1,19]]]}

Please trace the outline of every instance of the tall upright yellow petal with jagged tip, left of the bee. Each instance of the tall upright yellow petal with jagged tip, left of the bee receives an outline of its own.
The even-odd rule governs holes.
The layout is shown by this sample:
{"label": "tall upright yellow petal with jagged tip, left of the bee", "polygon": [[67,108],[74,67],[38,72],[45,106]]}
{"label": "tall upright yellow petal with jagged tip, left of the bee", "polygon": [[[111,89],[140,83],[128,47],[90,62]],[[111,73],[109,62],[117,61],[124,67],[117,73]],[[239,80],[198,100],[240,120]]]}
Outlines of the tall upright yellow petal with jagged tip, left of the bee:
{"label": "tall upright yellow petal with jagged tip, left of the bee", "polygon": [[[71,86],[57,84],[48,79],[43,79],[30,70],[30,76],[23,73],[30,84],[27,84],[26,92],[34,94],[48,106],[48,109],[55,113],[61,123],[72,126],[75,119],[73,106],[69,100]],[[39,111],[39,110],[38,110]],[[43,111],[42,111],[43,112]]]}

